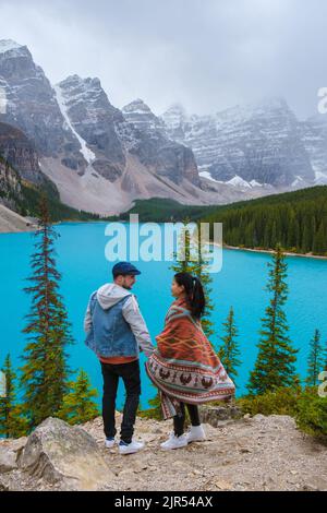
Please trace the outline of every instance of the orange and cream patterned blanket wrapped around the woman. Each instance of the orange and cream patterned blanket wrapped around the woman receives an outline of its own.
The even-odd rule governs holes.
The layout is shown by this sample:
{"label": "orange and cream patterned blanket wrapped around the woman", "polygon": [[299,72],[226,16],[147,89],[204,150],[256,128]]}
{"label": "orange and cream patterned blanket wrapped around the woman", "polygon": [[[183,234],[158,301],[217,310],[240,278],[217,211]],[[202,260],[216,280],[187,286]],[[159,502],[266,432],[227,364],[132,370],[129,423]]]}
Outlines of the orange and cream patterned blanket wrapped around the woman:
{"label": "orange and cream patterned blanket wrapped around the woman", "polygon": [[156,341],[146,372],[159,389],[165,419],[177,414],[181,402],[199,405],[234,394],[233,382],[185,299],[171,305]]}

